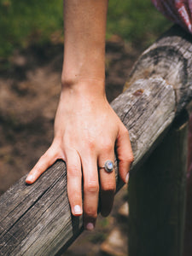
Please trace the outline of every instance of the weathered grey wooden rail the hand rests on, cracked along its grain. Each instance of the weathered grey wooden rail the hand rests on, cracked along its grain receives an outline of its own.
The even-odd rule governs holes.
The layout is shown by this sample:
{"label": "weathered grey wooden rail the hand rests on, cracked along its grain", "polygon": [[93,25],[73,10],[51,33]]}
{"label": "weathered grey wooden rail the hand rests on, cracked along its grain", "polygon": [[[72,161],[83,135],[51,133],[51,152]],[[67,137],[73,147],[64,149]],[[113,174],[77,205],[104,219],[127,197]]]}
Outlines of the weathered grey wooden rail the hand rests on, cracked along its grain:
{"label": "weathered grey wooden rail the hand rests on, cracked along its grain", "polygon": [[[170,33],[171,36],[168,32],[162,39],[164,40],[162,44],[166,42],[169,44],[169,37],[174,37],[172,30]],[[185,55],[188,49],[189,51],[192,49],[191,41],[189,42],[189,37],[184,32],[181,36],[175,37],[180,37],[180,41],[183,42],[180,44],[177,40],[179,49],[184,45],[183,50],[177,49],[179,57],[177,53],[174,55],[176,62],[181,58],[180,52],[183,53],[185,60],[181,61],[181,65],[176,65],[177,73],[182,69],[183,73],[187,73],[184,78],[190,79],[190,61],[186,61]],[[154,51],[153,46],[151,50]],[[150,58],[153,58],[153,55]],[[141,61],[143,59],[144,57]],[[182,63],[185,63],[184,67]],[[139,66],[138,61],[132,72],[133,79],[131,80],[131,77],[129,79],[131,86],[112,102],[113,109],[130,132],[135,156],[131,172],[136,172],[139,166],[143,165],[143,161],[172,124],[176,115],[175,110],[182,109],[192,96],[189,80],[181,79],[181,75],[179,81],[183,87],[177,89],[172,85],[175,84],[174,80],[169,83],[166,76],[162,78],[148,73],[146,78],[136,75],[137,66],[138,70],[144,68]],[[170,62],[168,66],[171,66]],[[117,167],[115,172],[119,189],[122,183],[119,181]],[[58,160],[31,186],[26,185],[25,178],[22,177],[0,198],[0,253],[3,256],[46,256],[60,253],[61,248],[68,247],[83,230],[82,218],[73,218],[70,212],[67,200],[66,166]]]}

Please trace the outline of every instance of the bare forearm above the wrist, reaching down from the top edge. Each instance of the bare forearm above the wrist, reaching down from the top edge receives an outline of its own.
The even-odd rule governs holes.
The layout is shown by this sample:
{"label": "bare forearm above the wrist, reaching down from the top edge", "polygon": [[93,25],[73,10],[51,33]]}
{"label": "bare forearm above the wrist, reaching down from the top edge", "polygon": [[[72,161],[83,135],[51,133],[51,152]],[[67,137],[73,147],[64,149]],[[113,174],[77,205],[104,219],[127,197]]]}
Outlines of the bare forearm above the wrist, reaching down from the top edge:
{"label": "bare forearm above the wrist, reaching down from the top edge", "polygon": [[82,80],[104,86],[107,10],[108,0],[64,0],[64,87]]}

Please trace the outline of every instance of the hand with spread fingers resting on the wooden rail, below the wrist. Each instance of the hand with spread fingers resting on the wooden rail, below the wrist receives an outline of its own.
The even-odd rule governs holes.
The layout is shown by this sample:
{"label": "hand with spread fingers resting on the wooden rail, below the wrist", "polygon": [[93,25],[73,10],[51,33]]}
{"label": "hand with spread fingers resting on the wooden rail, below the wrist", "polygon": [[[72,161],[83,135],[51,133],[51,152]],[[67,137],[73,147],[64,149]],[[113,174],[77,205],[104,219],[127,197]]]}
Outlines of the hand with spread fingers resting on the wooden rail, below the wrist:
{"label": "hand with spread fingers resting on the wooden rail, below the wrist", "polygon": [[[84,82],[83,82],[84,83]],[[55,138],[46,153],[26,178],[35,182],[55,160],[67,163],[67,194],[73,215],[84,208],[84,227],[94,229],[99,191],[101,213],[107,216],[113,206],[115,173],[99,169],[106,160],[114,161],[114,147],[119,160],[119,176],[126,183],[133,161],[128,131],[100,92],[83,93],[77,89],[62,90],[55,116]],[[82,176],[84,206],[82,207]]]}

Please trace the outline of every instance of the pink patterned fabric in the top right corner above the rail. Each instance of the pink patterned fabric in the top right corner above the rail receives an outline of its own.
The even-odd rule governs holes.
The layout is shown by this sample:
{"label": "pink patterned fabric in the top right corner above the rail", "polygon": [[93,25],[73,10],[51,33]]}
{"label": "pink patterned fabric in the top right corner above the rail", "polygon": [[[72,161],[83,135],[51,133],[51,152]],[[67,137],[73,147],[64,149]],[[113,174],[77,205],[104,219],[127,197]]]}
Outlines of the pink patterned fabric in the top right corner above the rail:
{"label": "pink patterned fabric in the top right corner above the rail", "polygon": [[163,15],[192,33],[192,0],[152,0],[152,3]]}

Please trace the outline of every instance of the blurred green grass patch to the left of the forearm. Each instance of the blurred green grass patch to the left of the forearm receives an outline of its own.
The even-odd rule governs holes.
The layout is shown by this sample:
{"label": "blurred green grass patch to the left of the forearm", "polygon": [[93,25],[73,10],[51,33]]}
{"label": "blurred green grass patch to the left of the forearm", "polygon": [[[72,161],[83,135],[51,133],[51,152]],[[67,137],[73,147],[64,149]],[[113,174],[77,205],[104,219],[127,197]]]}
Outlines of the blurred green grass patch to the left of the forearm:
{"label": "blurred green grass patch to the left of the forearm", "polygon": [[62,0],[0,0],[0,58],[15,48],[50,41],[62,23]]}

